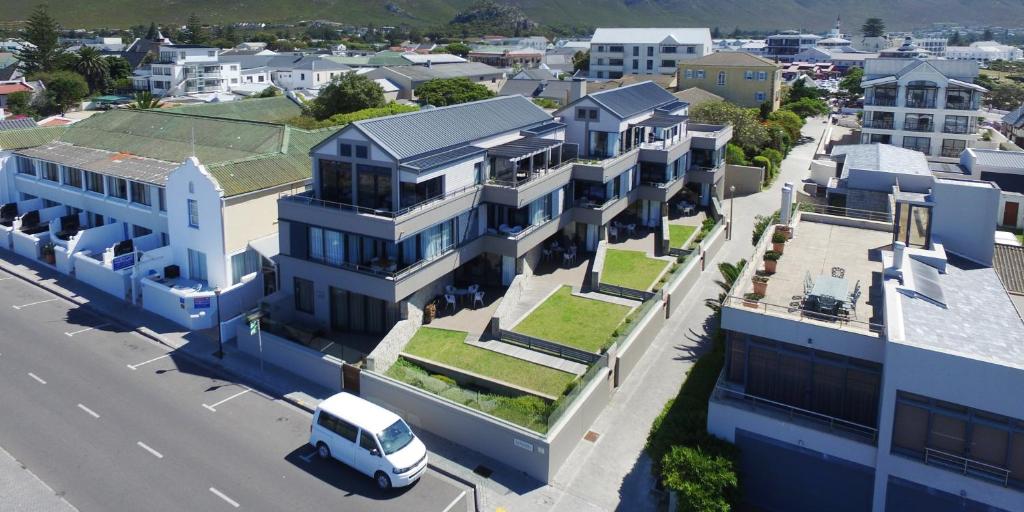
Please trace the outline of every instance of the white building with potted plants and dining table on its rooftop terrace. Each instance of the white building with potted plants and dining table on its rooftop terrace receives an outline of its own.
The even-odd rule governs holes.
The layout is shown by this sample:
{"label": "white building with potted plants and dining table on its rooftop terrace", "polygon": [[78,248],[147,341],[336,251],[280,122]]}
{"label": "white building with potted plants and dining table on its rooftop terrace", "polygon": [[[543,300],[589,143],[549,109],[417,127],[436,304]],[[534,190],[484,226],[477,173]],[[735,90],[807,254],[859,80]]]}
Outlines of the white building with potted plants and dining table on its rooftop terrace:
{"label": "white building with potted plants and dining table on its rooftop terrace", "polygon": [[790,214],[787,184],[775,273],[749,294],[769,227],[723,306],[708,430],[739,447],[759,510],[1022,509],[1024,323],[993,268],[999,190],[891,190],[890,216]]}

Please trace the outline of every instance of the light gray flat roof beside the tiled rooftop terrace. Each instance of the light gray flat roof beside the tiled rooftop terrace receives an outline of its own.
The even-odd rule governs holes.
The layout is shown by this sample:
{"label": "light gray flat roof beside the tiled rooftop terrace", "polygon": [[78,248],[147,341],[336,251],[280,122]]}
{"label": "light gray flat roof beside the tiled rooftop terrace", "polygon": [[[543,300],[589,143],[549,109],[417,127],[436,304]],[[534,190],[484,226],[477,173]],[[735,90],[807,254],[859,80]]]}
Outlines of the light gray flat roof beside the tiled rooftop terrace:
{"label": "light gray flat roof beside the tiled rooftop terrace", "polygon": [[1024,323],[994,269],[951,256],[939,284],[945,307],[899,294],[909,344],[1024,368]]}

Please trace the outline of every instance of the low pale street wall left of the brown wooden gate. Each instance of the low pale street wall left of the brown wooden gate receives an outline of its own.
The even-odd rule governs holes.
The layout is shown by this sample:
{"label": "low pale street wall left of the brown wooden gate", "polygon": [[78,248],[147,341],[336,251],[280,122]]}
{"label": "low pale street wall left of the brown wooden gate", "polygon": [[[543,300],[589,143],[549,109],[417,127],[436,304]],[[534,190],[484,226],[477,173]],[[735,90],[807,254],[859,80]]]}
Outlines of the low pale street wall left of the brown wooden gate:
{"label": "low pale street wall left of the brown wooden gate", "polygon": [[342,390],[341,359],[266,331],[259,333],[258,336],[252,336],[249,334],[247,322],[238,326],[236,337],[239,349],[254,357],[260,357],[260,338],[262,338],[264,365],[301,375],[332,391]]}

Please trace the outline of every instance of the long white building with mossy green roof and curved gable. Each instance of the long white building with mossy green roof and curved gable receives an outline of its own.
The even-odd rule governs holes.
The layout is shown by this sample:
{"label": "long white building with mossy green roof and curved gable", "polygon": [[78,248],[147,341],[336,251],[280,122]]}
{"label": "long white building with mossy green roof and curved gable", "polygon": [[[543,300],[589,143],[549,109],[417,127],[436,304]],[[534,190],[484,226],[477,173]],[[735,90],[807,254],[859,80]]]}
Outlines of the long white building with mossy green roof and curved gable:
{"label": "long white building with mossy green roof and curved gable", "polygon": [[324,132],[115,110],[2,132],[0,249],[186,329],[276,288],[276,200]]}

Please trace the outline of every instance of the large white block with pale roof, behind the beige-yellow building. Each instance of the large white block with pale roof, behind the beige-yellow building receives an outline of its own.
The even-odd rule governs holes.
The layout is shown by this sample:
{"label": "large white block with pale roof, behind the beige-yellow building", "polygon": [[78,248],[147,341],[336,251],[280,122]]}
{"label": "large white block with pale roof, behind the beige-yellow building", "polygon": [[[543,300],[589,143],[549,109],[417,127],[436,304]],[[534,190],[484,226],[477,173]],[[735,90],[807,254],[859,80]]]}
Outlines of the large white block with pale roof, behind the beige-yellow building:
{"label": "large white block with pale roof, behind the beige-yellow building", "polygon": [[590,41],[590,78],[673,75],[681,60],[712,51],[708,29],[597,29]]}

